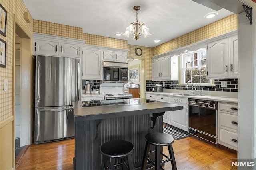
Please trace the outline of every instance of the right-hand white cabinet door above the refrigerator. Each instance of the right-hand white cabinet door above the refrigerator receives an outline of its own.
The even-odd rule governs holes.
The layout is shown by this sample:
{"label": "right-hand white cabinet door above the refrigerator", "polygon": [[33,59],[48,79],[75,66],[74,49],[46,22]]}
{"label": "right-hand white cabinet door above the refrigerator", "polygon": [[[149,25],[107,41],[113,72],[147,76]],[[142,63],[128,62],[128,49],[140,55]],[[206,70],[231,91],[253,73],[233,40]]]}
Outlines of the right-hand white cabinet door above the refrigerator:
{"label": "right-hand white cabinet door above the refrigerator", "polygon": [[60,56],[80,58],[80,45],[60,43]]}

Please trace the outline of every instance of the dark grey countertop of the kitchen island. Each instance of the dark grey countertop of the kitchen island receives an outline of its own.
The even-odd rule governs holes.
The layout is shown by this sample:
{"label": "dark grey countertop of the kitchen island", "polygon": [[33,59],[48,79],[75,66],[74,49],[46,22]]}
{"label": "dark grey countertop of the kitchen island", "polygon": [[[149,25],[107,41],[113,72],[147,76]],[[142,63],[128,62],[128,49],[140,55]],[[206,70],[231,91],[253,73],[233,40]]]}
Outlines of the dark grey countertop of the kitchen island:
{"label": "dark grey countertop of the kitchen island", "polygon": [[82,107],[81,102],[73,102],[74,121],[76,122],[106,119],[112,117],[162,113],[165,111],[183,109],[183,106],[181,105],[165,102],[149,102],[149,100],[146,99],[124,99],[124,102],[127,104],[109,104],[94,107]]}

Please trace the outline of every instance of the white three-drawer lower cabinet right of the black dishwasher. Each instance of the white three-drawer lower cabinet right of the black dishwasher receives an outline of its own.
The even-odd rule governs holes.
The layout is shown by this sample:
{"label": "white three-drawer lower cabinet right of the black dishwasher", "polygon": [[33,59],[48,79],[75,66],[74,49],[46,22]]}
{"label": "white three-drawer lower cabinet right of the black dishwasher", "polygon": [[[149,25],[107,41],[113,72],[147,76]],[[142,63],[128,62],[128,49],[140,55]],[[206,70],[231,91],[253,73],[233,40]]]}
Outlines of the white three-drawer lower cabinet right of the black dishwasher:
{"label": "white three-drawer lower cabinet right of the black dishwasher", "polygon": [[218,143],[237,150],[238,106],[233,103],[218,103]]}

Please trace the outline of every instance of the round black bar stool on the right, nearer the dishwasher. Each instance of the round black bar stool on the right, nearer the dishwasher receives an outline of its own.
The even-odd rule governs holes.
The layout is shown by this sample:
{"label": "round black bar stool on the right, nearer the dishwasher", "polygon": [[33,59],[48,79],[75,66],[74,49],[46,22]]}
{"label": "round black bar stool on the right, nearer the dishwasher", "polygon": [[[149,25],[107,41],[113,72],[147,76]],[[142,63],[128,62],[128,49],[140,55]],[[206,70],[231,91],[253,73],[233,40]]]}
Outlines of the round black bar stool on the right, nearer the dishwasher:
{"label": "round black bar stool on the right, nearer the dishwasher", "polygon": [[[172,163],[172,170],[177,170],[177,166],[174,158],[174,152],[172,148],[172,143],[174,142],[174,139],[171,135],[168,135],[166,133],[161,133],[161,132],[148,133],[145,136],[145,140],[146,140],[146,147],[145,147],[142,166],[141,166],[142,170],[146,169],[147,160],[148,162],[150,162],[152,165],[155,166],[155,170],[160,170],[160,169],[164,170],[161,164],[168,161],[171,161]],[[156,149],[152,152],[149,152],[150,145],[156,146]],[[170,158],[166,156],[163,152],[161,152],[162,146],[168,146]],[[148,155],[152,153],[155,153],[155,162],[153,162],[148,157]],[[161,161],[160,154],[166,157],[166,160]]]}

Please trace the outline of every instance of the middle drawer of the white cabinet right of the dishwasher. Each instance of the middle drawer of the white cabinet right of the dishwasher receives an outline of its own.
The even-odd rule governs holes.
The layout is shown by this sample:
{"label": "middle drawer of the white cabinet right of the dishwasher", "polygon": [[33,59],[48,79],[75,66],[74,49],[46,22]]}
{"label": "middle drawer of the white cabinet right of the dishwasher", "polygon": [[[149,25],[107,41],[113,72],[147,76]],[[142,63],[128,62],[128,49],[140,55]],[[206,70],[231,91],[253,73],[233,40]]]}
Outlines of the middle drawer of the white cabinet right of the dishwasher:
{"label": "middle drawer of the white cabinet right of the dishwasher", "polygon": [[227,127],[237,131],[238,125],[237,115],[220,112],[220,127]]}

